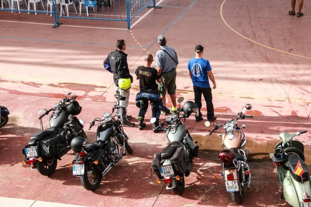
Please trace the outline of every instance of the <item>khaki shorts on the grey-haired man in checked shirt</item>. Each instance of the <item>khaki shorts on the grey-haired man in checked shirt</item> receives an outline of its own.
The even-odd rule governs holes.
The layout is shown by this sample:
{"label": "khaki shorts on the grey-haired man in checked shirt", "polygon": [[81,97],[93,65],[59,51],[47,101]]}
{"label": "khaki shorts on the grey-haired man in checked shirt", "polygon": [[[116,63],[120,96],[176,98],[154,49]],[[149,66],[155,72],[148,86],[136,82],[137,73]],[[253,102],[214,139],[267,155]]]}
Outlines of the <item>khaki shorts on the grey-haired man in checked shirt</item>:
{"label": "khaki shorts on the grey-haired man in checked shirt", "polygon": [[158,83],[161,96],[165,96],[166,92],[169,95],[176,93],[176,70],[173,69],[169,72],[161,73],[161,83]]}

